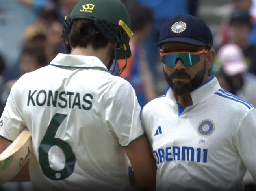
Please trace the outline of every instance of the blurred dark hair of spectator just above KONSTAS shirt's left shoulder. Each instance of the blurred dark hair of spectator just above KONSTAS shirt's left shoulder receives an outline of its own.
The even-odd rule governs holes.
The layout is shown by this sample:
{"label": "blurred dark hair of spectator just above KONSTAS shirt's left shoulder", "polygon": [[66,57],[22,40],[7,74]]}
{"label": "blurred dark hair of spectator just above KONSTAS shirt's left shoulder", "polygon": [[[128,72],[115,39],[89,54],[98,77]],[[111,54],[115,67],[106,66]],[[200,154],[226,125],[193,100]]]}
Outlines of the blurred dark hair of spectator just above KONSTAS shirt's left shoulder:
{"label": "blurred dark hair of spectator just above KONSTAS shirt's left shoulder", "polygon": [[37,63],[41,66],[48,65],[45,49],[43,47],[37,47],[37,46],[27,47],[22,51],[22,55],[25,55],[25,54],[34,56],[37,60]]}

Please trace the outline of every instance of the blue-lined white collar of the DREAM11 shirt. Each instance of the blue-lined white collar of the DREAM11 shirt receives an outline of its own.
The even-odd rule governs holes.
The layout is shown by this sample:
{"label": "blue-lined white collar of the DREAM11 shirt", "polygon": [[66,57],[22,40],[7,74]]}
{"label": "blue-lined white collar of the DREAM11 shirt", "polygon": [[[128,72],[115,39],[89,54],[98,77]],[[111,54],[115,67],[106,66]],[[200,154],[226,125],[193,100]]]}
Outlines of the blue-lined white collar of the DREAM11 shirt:
{"label": "blue-lined white collar of the DREAM11 shirt", "polygon": [[[190,95],[192,98],[193,105],[209,98],[220,88],[221,87],[219,85],[217,78],[215,76],[210,75],[209,79],[206,82],[200,84],[196,89],[191,91]],[[177,102],[174,93],[170,87],[168,87],[167,90],[165,91],[165,97],[170,98],[175,103]]]}

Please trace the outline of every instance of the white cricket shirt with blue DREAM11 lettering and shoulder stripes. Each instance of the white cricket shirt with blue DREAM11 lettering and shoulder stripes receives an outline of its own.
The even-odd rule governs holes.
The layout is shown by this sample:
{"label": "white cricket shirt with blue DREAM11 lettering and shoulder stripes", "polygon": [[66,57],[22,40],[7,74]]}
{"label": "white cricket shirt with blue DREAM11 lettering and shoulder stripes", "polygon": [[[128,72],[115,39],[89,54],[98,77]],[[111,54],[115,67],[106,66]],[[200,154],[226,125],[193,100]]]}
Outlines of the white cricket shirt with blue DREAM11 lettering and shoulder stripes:
{"label": "white cricket shirt with blue DREAM11 lettering and shoulder stripes", "polygon": [[173,91],[149,102],[142,124],[157,163],[157,191],[242,191],[256,180],[256,109],[221,89],[217,79],[191,92],[183,108]]}

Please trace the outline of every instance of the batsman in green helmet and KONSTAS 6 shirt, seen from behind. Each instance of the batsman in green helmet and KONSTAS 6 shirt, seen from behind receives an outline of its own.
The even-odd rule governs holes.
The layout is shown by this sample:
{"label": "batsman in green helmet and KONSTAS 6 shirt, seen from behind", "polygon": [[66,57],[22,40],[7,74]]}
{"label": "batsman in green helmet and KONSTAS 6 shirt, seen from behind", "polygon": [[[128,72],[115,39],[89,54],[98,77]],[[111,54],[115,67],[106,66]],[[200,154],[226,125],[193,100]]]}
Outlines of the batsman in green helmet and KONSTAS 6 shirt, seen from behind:
{"label": "batsman in green helmet and KONSTAS 6 shirt, seen from behind", "polygon": [[[28,148],[32,154],[12,181],[31,180],[35,190],[132,190],[129,159],[137,182],[154,187],[141,108],[132,86],[118,77],[126,66],[118,60],[131,56],[132,35],[120,0],[76,4],[63,27],[67,54],[23,75],[0,118],[0,158],[27,156],[24,165]],[[16,168],[17,160],[6,161]]]}

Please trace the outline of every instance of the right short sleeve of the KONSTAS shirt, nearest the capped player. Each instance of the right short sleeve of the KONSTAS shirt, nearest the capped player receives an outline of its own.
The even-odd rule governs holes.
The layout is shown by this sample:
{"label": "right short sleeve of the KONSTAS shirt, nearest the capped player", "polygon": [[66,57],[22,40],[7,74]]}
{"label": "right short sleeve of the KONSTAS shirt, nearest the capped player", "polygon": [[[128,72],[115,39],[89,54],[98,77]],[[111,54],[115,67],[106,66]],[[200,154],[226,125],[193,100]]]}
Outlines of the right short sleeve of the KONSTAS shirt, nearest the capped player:
{"label": "right short sleeve of the KONSTAS shirt, nearest the capped player", "polygon": [[119,144],[125,147],[144,135],[144,130],[140,120],[141,107],[135,91],[129,82],[119,79],[108,91],[105,119]]}

